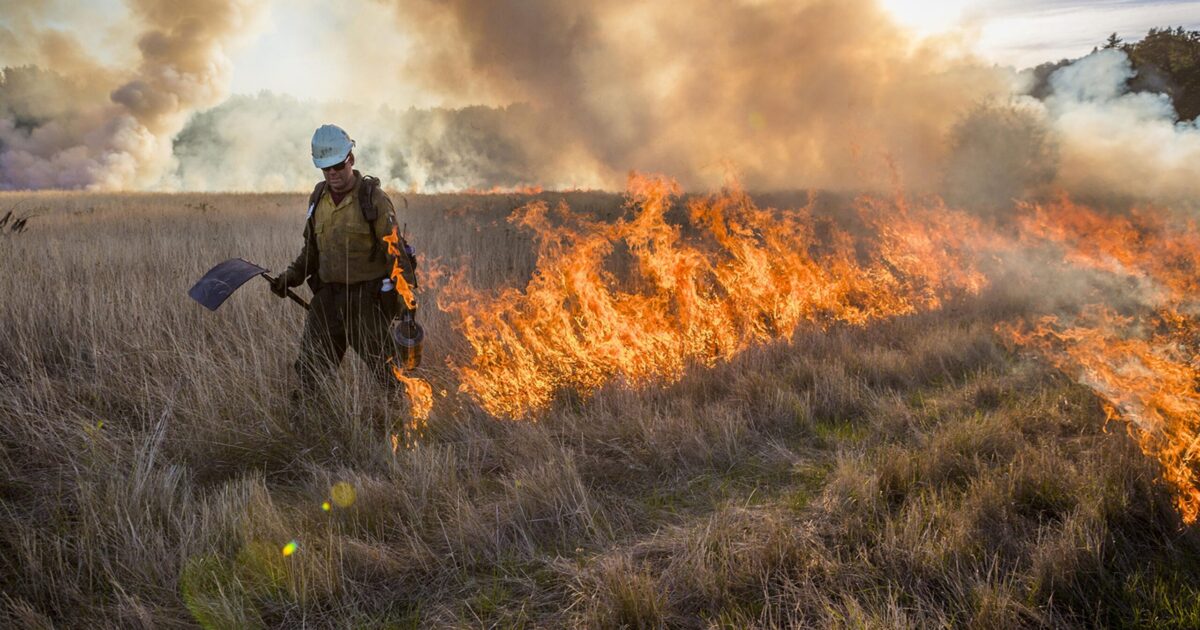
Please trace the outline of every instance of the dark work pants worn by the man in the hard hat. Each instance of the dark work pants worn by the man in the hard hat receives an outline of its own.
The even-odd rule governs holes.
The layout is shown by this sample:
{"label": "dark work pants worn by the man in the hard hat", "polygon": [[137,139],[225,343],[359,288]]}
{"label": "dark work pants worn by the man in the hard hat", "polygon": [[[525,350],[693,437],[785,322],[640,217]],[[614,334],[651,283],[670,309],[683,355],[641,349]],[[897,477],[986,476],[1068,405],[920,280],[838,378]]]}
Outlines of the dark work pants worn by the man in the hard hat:
{"label": "dark work pants worn by the man in the hard hat", "polygon": [[314,391],[319,379],[335,372],[347,347],[354,348],[380,383],[395,384],[388,366],[392,356],[388,334],[391,316],[385,312],[390,308],[383,304],[379,283],[326,283],[313,295],[295,364],[302,391]]}

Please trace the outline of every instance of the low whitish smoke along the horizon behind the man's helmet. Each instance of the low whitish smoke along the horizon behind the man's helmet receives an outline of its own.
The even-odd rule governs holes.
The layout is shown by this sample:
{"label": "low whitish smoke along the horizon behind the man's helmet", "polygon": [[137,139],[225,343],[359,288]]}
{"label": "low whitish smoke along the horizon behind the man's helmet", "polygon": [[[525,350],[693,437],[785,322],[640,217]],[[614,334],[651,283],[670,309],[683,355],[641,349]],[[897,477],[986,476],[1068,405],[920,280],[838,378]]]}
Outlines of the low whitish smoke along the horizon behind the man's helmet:
{"label": "low whitish smoke along the horizon behind the man's helmet", "polygon": [[547,185],[594,187],[558,168],[559,146],[528,106],[406,109],[317,103],[263,92],[197,114],[174,143],[162,187],[298,191],[320,179],[308,139],[335,122],[355,139],[356,163],[390,188],[443,192]]}

